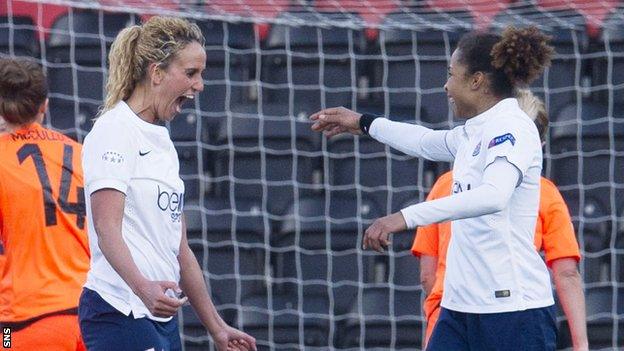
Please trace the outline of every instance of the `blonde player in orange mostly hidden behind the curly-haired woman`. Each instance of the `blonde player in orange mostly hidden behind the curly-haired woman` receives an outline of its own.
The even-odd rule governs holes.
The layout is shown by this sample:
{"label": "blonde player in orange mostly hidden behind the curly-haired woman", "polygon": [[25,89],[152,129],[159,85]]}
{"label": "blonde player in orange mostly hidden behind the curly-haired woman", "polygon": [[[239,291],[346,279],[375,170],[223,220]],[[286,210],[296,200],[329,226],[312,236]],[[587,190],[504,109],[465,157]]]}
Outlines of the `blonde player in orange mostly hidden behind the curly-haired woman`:
{"label": "blonde player in orange mostly hidden behind the curly-haired woman", "polygon": [[[518,103],[529,117],[535,118],[543,141],[548,127],[543,103],[528,90],[519,91]],[[449,196],[452,184],[452,172],[441,175],[433,185],[427,201]],[[425,345],[440,314],[450,238],[450,222],[432,224],[418,228],[412,246],[412,253],[420,257],[421,281],[427,293],[423,306],[427,321]],[[537,250],[544,251],[546,263],[553,272],[559,302],[569,322],[574,350],[587,350],[585,299],[577,269],[581,258],[578,243],[561,193],[544,177],[540,182],[540,205],[534,245]]]}

